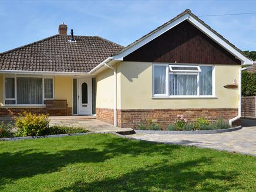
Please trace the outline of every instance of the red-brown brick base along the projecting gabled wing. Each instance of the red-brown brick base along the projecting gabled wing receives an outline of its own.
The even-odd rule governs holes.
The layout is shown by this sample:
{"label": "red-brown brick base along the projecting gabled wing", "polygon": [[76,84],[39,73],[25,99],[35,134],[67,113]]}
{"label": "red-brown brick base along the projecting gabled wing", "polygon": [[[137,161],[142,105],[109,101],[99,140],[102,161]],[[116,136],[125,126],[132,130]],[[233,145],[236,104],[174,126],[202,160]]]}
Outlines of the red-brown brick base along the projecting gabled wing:
{"label": "red-brown brick base along the projecting gabled wing", "polygon": [[[113,109],[97,108],[97,119],[113,124]],[[237,108],[201,108],[201,109],[117,109],[117,126],[122,128],[135,128],[140,122],[153,122],[166,128],[176,121],[177,115],[183,114],[188,121],[195,121],[199,117],[215,121],[219,118],[228,121],[238,115]],[[239,125],[240,119],[234,123]]]}

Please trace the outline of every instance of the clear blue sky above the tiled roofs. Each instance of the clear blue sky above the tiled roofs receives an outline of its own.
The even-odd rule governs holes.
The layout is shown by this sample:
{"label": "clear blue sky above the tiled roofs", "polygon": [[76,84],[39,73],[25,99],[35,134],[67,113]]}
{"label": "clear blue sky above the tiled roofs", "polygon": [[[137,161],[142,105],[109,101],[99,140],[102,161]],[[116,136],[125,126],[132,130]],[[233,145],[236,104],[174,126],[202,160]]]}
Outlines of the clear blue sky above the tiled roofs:
{"label": "clear blue sky above the tiled roofs", "polygon": [[[196,15],[255,12],[256,1],[0,1],[0,52],[58,33],[126,46],[185,9]],[[256,50],[256,14],[202,17],[241,50]]]}

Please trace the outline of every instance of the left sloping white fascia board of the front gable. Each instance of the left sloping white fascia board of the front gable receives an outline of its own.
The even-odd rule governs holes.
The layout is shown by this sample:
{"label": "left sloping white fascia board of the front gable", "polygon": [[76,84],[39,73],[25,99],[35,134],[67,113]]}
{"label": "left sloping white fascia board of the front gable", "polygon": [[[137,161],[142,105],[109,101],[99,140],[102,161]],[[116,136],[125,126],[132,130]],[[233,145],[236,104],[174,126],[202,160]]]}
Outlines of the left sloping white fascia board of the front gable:
{"label": "left sloping white fascia board of the front gable", "polygon": [[162,35],[163,33],[167,32],[169,29],[174,28],[174,26],[178,25],[179,23],[183,22],[184,20],[188,19],[188,14],[181,16],[177,20],[169,23],[168,25],[164,26],[163,28],[157,30],[150,36],[146,37],[145,39],[141,40],[140,42],[134,44],[129,49],[124,50],[124,52],[113,56],[113,60],[123,60],[123,57],[127,56],[128,54],[134,52],[135,50],[142,47],[144,44],[151,42],[151,40],[156,39],[156,37]]}

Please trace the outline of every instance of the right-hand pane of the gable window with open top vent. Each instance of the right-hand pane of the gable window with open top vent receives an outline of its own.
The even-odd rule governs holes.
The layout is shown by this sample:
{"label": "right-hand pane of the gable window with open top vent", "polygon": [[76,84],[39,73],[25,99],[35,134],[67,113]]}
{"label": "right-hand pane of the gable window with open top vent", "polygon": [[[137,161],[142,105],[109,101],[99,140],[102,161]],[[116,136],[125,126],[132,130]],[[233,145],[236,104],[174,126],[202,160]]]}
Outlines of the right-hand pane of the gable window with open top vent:
{"label": "right-hand pane of the gable window with open top vent", "polygon": [[200,66],[200,95],[213,94],[213,67]]}

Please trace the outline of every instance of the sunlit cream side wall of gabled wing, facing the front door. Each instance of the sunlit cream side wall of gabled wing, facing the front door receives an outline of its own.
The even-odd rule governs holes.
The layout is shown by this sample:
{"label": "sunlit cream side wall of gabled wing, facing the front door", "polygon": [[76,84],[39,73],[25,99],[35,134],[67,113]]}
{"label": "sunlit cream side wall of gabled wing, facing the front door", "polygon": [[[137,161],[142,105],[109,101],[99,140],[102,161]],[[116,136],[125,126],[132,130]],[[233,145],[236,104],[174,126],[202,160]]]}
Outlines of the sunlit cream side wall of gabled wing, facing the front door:
{"label": "sunlit cream side wall of gabled wing, facing the front door", "polygon": [[108,68],[96,76],[96,108],[113,108],[114,76]]}

